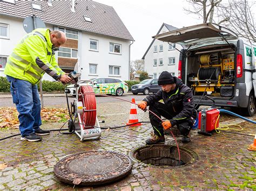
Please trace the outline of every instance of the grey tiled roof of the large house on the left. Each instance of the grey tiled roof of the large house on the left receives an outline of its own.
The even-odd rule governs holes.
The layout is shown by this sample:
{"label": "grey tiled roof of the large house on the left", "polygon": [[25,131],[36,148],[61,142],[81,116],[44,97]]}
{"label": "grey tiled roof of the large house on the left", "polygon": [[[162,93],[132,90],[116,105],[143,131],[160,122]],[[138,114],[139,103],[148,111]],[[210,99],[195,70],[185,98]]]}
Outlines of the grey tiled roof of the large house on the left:
{"label": "grey tiled roof of the large house on the left", "polygon": [[[41,5],[42,10],[32,9],[32,3]],[[52,25],[134,40],[112,6],[91,0],[77,0],[75,12],[71,11],[71,0],[52,1],[52,6],[48,1],[16,1],[12,4],[0,0],[0,15],[18,18],[36,15]],[[92,22],[86,22],[84,16],[90,17]]]}

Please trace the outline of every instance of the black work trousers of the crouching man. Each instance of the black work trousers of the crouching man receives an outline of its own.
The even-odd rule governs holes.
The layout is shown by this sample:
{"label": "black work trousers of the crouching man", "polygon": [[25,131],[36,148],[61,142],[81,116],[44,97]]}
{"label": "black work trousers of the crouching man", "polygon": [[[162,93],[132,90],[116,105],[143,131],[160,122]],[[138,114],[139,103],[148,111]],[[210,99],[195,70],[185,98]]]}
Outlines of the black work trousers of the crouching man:
{"label": "black work trousers of the crouching man", "polygon": [[[154,112],[158,117],[161,118],[163,116],[166,119],[172,119],[174,117],[173,114],[168,112],[170,109],[168,109],[168,105],[160,102],[154,102],[152,105],[150,105],[149,110]],[[159,118],[157,118],[154,114],[149,112],[150,117],[150,123],[153,126],[154,129],[154,135],[157,136],[164,136],[164,128],[161,125],[161,121]],[[189,119],[182,119],[179,121],[179,124],[177,124],[177,128],[179,129],[181,135],[187,136],[188,133],[190,133],[190,130],[193,126],[193,121],[191,118]]]}

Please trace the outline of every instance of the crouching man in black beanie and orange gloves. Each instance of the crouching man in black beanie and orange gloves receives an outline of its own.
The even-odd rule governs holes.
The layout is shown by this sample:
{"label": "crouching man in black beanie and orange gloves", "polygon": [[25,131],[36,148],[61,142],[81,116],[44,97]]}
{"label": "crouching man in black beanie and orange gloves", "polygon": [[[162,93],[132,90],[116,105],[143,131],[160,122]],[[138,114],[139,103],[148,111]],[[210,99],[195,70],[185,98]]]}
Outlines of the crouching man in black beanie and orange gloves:
{"label": "crouching man in black beanie and orange gloves", "polygon": [[[189,87],[181,82],[178,77],[173,77],[169,72],[164,71],[158,78],[158,84],[161,90],[153,95],[144,98],[138,104],[142,110],[149,110],[154,112],[157,116],[165,117],[166,120],[161,122],[159,118],[149,112],[150,122],[153,126],[154,135],[146,140],[146,144],[156,144],[165,142],[164,129],[170,129],[177,126],[181,135],[183,135],[182,142],[190,142],[188,134],[193,126],[194,119],[196,119],[196,110],[194,110],[193,95]],[[164,103],[159,102],[163,100]]]}

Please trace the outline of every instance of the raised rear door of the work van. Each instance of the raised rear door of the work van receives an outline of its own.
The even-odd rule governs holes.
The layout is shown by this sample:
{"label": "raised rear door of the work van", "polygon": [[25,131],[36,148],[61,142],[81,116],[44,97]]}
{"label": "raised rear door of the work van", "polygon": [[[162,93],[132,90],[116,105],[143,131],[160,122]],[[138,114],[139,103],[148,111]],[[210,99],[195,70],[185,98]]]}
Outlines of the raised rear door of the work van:
{"label": "raised rear door of the work van", "polygon": [[204,23],[161,33],[153,38],[160,41],[189,46],[207,43],[207,41],[219,41],[223,40],[223,38],[226,40],[238,39],[238,36],[236,33],[225,27],[214,23]]}

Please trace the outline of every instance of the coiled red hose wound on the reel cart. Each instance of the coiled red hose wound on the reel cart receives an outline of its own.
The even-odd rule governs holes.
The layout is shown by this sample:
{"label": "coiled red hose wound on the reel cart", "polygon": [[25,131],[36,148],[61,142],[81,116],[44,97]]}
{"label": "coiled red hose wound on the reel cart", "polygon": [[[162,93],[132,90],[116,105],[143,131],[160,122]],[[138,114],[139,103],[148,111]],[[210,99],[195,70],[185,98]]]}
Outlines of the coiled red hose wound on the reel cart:
{"label": "coiled red hose wound on the reel cart", "polygon": [[91,86],[80,86],[78,89],[78,101],[83,103],[83,115],[81,116],[83,129],[91,129],[96,123],[96,98]]}

